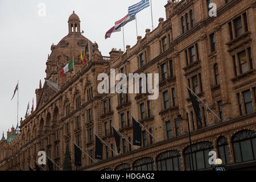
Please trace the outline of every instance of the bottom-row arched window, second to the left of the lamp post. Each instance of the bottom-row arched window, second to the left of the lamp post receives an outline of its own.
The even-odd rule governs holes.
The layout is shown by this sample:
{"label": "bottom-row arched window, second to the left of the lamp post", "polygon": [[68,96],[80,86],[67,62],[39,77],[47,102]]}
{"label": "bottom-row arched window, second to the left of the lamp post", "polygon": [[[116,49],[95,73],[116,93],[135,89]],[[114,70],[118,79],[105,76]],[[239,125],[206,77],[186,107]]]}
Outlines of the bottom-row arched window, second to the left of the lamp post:
{"label": "bottom-row arched window, second to the left of the lamp post", "polygon": [[154,160],[152,158],[143,158],[133,164],[134,171],[154,171]]}

